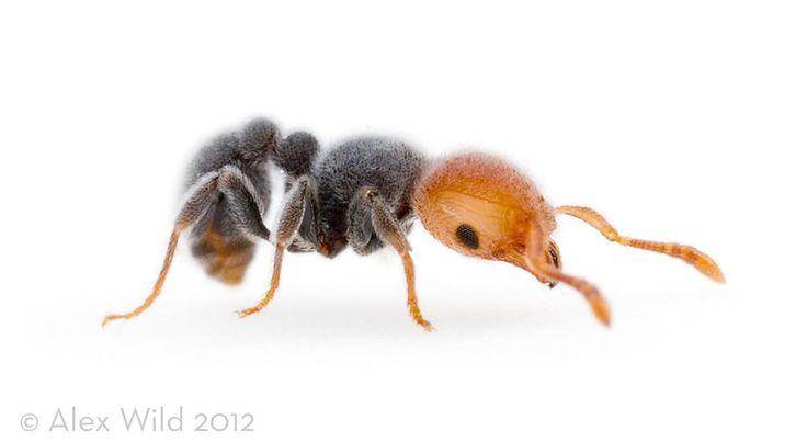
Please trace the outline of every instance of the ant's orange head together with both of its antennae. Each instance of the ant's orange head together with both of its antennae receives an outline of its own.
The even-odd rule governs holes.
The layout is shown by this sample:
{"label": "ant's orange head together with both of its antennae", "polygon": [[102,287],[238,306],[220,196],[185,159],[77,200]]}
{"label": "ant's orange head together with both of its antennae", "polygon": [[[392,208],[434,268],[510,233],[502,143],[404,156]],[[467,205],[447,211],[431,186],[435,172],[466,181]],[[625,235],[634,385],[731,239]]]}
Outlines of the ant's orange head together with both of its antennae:
{"label": "ant's orange head together with both of its antennae", "polygon": [[599,290],[562,271],[560,250],[550,238],[556,213],[579,217],[613,241],[681,258],[711,279],[724,281],[717,264],[692,247],[622,237],[590,208],[554,209],[532,181],[487,155],[466,154],[437,165],[421,181],[414,204],[423,227],[450,248],[476,258],[510,262],[550,286],[558,282],[570,285],[606,325],[611,314]]}

